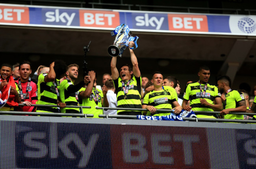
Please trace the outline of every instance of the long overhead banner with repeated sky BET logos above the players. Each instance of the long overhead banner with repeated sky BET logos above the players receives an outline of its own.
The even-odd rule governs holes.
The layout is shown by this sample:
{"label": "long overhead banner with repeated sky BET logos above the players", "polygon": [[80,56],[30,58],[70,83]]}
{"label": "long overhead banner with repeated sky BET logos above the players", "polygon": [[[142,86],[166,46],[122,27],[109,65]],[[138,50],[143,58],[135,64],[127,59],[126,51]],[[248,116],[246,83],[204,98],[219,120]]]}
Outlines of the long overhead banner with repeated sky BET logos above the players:
{"label": "long overhead banner with repeated sky BET logos above the players", "polygon": [[256,16],[0,4],[0,25],[256,36]]}

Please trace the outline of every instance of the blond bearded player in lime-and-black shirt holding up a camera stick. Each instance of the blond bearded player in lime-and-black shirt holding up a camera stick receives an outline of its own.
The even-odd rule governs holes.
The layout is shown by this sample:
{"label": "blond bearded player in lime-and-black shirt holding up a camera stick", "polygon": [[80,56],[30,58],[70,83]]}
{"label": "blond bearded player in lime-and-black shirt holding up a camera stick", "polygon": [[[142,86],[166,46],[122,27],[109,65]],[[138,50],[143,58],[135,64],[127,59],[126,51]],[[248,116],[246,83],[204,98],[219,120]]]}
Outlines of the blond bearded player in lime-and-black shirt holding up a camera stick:
{"label": "blond bearded player in lime-and-black shirt holding up a camera stick", "polygon": [[[66,79],[63,80],[59,87],[59,94],[61,98],[61,102],[66,105],[79,105],[78,94],[79,90],[87,84],[91,79],[90,76],[84,76],[84,80],[74,85],[75,80],[78,78],[78,69],[79,66],[77,64],[71,64],[68,66],[68,70],[66,72]],[[62,113],[80,113],[79,108],[70,108],[65,107],[61,109]]]}

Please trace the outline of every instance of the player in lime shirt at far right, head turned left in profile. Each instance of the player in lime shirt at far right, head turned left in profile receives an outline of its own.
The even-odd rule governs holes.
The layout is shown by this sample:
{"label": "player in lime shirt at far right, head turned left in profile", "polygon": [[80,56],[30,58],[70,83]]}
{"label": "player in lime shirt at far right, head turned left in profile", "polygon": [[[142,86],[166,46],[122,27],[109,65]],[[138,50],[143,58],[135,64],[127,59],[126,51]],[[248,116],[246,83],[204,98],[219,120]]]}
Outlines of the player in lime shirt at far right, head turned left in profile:
{"label": "player in lime shirt at far right, head turned left in profile", "polygon": [[221,76],[217,81],[218,89],[221,93],[221,101],[223,102],[223,110],[220,112],[222,116],[226,119],[241,119],[243,120],[243,115],[239,114],[229,114],[230,112],[245,112],[246,103],[243,93],[232,90],[231,80],[228,76]]}

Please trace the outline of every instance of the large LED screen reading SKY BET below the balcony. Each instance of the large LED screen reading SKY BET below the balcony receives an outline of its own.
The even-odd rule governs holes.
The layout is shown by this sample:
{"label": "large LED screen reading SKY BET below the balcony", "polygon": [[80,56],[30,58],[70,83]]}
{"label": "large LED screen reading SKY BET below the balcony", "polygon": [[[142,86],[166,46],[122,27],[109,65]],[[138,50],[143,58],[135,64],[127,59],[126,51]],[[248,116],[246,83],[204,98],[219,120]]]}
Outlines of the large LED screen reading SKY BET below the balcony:
{"label": "large LED screen reading SKY BET below the balcony", "polygon": [[[102,119],[19,122],[11,121],[12,117],[1,118],[9,118],[0,121],[1,168],[256,168],[256,129],[223,128],[255,128],[254,125],[208,123],[209,127],[172,127],[162,124],[173,122],[154,121],[152,124],[157,125],[146,125],[143,120],[137,120],[142,125],[121,125],[95,123]],[[23,120],[28,118],[36,117]]]}

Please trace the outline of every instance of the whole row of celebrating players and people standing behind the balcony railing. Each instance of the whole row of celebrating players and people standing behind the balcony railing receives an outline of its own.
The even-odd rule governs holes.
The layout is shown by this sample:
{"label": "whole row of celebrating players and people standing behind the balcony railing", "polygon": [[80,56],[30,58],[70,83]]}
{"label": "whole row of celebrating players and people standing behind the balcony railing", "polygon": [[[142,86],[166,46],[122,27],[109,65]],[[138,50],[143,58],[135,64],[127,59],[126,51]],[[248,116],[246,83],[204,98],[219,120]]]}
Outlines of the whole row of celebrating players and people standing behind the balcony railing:
{"label": "whole row of celebrating players and people standing behind the balcony railing", "polygon": [[[134,45],[130,42],[129,47]],[[97,87],[96,72],[91,70],[78,78],[77,64],[66,65],[62,60],[52,62],[49,67],[39,66],[32,76],[31,64],[23,61],[20,64],[2,64],[0,68],[0,111],[25,111],[48,113],[85,113],[118,115],[167,116],[170,112],[158,109],[173,109],[179,114],[182,109],[195,111],[198,118],[255,119],[256,116],[230,114],[230,112],[256,113],[256,96],[250,105],[250,94],[245,90],[231,89],[228,76],[221,76],[217,86],[208,83],[210,69],[202,66],[198,71],[197,82],[188,81],[183,99],[180,94],[180,83],[174,76],[163,77],[161,72],[154,72],[152,79],[141,77],[137,57],[132,49],[130,58],[132,67],[116,67],[117,57],[111,60],[111,75],[104,74],[103,87]],[[256,90],[255,90],[256,91]],[[18,106],[24,104],[24,106]],[[38,106],[31,106],[38,104]],[[58,105],[44,107],[40,105]],[[67,107],[67,105],[91,106],[91,109]],[[126,108],[119,110],[96,109],[95,107]],[[147,111],[132,110],[143,108]],[[220,111],[220,114],[207,114],[209,111]]]}

